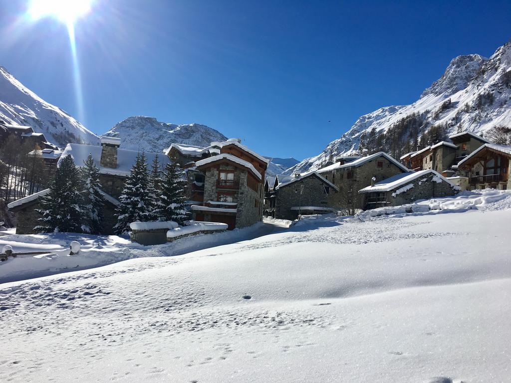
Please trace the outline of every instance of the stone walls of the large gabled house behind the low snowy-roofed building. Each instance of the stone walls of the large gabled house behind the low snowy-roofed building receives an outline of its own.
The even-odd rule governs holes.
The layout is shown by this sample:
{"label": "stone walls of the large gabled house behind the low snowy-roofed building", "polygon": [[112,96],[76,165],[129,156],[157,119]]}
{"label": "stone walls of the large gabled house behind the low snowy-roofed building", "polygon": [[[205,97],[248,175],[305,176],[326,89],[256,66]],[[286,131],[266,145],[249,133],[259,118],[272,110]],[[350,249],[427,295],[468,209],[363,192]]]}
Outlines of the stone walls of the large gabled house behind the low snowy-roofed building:
{"label": "stone walls of the large gabled house behind the low snowy-roofed building", "polygon": [[[383,161],[383,167],[378,167],[378,161]],[[393,175],[403,173],[396,164],[389,161],[383,156],[377,157],[358,167],[350,167],[336,169],[330,172],[320,173],[323,177],[332,182],[335,172],[335,186],[339,188],[338,193],[330,193],[328,198],[328,206],[335,207],[339,210],[345,208],[346,199],[352,189],[351,196],[354,199],[354,207],[362,209],[364,207],[364,197],[358,193],[360,189],[371,184],[371,178],[376,177],[376,182],[389,178]],[[353,172],[351,180],[346,179],[347,172]]]}

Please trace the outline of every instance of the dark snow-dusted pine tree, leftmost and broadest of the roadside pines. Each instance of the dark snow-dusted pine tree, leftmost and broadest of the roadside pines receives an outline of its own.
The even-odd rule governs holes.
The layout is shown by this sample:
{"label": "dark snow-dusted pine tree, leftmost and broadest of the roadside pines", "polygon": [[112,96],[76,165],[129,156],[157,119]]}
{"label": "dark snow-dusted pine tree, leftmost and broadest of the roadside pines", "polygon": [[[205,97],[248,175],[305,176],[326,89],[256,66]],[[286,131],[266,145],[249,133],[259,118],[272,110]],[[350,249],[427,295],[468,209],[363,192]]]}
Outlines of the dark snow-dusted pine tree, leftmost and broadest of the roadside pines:
{"label": "dark snow-dusted pine tree, leftmost and broadest of the roadside pines", "polygon": [[50,183],[50,193],[40,198],[40,208],[36,209],[42,218],[34,228],[41,233],[81,232],[84,225],[85,209],[80,193],[82,179],[73,157],[65,156],[55,171]]}

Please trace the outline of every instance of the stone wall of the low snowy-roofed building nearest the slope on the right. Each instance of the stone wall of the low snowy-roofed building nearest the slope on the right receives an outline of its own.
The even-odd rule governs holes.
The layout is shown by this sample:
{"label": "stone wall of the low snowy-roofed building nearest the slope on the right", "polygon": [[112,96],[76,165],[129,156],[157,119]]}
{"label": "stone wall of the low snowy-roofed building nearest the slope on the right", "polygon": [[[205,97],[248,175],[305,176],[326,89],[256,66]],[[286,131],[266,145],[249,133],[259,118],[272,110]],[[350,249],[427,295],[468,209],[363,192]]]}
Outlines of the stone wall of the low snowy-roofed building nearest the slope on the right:
{"label": "stone wall of the low snowy-roofed building nearest the slope on the right", "polygon": [[[415,179],[413,182],[410,182],[413,183],[412,188],[408,189],[406,192],[396,195],[395,197],[392,196],[392,193],[395,193],[400,187],[408,185],[408,183],[390,190],[387,192],[387,201],[390,202],[387,206],[404,205],[416,200],[430,199],[434,197],[454,196],[458,193],[458,191],[446,181],[436,182],[432,180],[433,177],[433,174],[429,174]],[[426,180],[424,181],[424,179]]]}

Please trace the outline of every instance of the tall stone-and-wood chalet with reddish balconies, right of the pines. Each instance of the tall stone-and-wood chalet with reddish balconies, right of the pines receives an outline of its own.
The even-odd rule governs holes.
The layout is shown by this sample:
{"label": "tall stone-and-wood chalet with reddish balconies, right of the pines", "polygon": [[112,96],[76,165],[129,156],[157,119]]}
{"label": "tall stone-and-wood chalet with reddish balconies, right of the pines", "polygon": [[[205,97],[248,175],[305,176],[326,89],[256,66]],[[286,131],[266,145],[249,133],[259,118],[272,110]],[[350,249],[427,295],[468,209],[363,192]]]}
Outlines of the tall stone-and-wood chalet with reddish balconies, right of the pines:
{"label": "tall stone-and-wood chalet with reddish balconies, right of the pines", "polygon": [[173,143],[166,153],[187,174],[194,220],[226,223],[228,229],[262,221],[268,159],[238,139],[205,148]]}

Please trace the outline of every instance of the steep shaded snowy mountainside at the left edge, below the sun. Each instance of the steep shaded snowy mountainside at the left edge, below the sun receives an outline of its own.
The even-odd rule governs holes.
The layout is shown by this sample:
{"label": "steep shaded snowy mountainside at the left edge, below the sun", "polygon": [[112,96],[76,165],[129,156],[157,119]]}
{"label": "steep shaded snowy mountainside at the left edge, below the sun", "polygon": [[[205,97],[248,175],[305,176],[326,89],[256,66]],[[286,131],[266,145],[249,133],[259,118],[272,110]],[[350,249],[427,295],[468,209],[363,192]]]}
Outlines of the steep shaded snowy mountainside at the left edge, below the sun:
{"label": "steep shaded snowy mountainside at the left edge, below the sun", "polygon": [[45,102],[0,66],[0,119],[31,126],[60,147],[68,142],[99,143],[98,136],[62,109]]}

